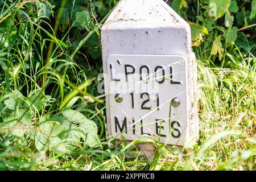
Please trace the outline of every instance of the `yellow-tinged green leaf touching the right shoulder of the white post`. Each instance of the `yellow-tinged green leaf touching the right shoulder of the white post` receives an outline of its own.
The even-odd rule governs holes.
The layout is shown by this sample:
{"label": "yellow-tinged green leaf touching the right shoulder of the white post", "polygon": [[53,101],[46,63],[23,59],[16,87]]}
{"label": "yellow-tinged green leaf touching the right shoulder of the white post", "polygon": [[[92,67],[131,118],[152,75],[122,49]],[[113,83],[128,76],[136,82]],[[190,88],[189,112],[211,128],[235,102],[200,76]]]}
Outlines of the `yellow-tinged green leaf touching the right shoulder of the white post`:
{"label": "yellow-tinged green leaf touching the right shoulder of the white post", "polygon": [[204,41],[203,36],[208,35],[206,27],[197,23],[189,23],[191,27],[192,46],[199,46]]}

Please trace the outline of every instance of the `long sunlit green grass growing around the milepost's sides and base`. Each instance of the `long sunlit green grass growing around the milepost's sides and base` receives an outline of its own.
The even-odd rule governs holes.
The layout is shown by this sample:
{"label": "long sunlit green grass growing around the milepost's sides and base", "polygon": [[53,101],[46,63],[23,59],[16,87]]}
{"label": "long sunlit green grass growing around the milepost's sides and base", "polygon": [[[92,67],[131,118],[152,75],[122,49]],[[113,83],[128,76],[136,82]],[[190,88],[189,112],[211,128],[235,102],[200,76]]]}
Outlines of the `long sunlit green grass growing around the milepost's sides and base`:
{"label": "long sunlit green grass growing around the milepost's sides and base", "polygon": [[[57,39],[47,18],[38,17],[36,12],[28,15],[20,8],[19,3],[7,6],[0,15],[4,23],[0,24],[0,169],[256,169],[253,46],[234,44],[232,52],[225,49],[227,60],[236,63],[232,69],[218,68],[210,61],[205,64],[205,60],[212,59],[204,55],[208,46],[194,48],[200,59],[197,61],[200,117],[197,143],[188,142],[183,150],[176,150],[175,146],[167,147],[147,138],[115,146],[115,140],[105,137],[105,100],[104,95],[97,93],[99,81],[96,78],[102,71],[101,65],[88,65],[87,61],[77,59],[73,52],[79,53],[79,49],[72,49],[63,41],[69,38],[71,29],[63,33],[61,40]],[[79,40],[80,48],[89,36]],[[50,58],[47,57],[49,42],[56,45]],[[63,125],[60,121],[63,109],[77,110],[96,123],[102,146],[90,147],[80,138],[79,142],[68,143],[72,150],[58,152],[57,145],[36,139],[40,138],[36,137],[38,134],[46,134],[47,137],[42,135],[42,138],[47,140],[52,138],[56,126]],[[44,123],[49,124],[51,132],[43,132]],[[63,139],[64,143],[66,140]],[[157,154],[152,162],[135,146],[142,142],[155,144]],[[39,150],[40,144],[46,147]],[[130,151],[138,154],[137,157],[126,158],[124,154]]]}

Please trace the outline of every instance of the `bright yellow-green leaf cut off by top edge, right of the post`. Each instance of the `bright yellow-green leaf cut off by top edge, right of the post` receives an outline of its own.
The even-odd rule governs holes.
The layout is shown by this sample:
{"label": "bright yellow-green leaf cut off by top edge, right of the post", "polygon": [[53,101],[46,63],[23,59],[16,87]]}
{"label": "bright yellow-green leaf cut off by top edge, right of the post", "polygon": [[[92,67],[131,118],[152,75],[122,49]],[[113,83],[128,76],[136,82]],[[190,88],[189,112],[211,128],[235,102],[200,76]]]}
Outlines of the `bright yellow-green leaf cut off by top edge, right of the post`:
{"label": "bright yellow-green leaf cut off by top edge, right of the post", "polygon": [[210,0],[209,2],[209,16],[217,19],[229,11],[230,0]]}

